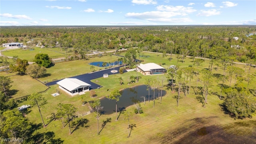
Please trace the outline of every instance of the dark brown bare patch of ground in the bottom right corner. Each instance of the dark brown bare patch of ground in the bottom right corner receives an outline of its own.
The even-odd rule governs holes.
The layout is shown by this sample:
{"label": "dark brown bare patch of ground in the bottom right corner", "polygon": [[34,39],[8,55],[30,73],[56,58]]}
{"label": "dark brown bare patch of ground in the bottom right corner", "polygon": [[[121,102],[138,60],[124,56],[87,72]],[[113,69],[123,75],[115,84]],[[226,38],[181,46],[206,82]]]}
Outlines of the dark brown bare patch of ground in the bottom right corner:
{"label": "dark brown bare patch of ground in the bottom right corner", "polygon": [[211,118],[196,118],[176,130],[151,138],[161,144],[255,144],[256,121],[235,122],[227,126],[211,125]]}

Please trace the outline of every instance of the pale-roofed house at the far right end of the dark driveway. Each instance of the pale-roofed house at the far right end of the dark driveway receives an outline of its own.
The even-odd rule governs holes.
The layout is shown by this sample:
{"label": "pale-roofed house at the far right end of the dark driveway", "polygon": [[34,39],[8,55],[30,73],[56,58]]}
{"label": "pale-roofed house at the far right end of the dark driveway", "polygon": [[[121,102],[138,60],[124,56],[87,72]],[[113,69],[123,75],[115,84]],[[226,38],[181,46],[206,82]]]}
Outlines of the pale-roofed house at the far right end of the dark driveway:
{"label": "pale-roofed house at the far right end of the dark driveway", "polygon": [[165,68],[155,63],[138,64],[136,70],[144,75],[164,74],[167,71]]}

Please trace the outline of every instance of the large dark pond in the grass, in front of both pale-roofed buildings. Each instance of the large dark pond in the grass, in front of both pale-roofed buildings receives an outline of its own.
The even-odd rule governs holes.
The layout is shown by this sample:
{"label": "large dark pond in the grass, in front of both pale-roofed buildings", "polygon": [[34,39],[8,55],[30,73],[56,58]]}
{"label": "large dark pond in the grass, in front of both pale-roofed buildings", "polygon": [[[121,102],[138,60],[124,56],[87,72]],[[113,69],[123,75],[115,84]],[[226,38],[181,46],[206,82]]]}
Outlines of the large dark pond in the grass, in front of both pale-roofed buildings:
{"label": "large dark pond in the grass, in front of both pale-roofed buildings", "polygon": [[[121,91],[122,96],[119,98],[119,101],[117,102],[117,109],[121,108],[127,108],[128,106],[134,105],[134,102],[144,102],[144,98],[146,100],[146,104],[148,104],[148,90],[146,85],[141,86],[135,86],[132,88],[126,88]],[[154,91],[150,90],[150,100],[153,100]],[[159,90],[159,95],[161,96],[161,90]],[[162,90],[162,96],[166,95],[166,91]],[[158,98],[158,90],[155,92],[155,99]],[[156,100],[156,103],[158,100]],[[150,103],[153,103],[150,102]],[[108,98],[102,98],[100,100],[101,106],[104,107],[101,112],[103,114],[112,114],[116,112],[116,101],[115,100],[109,100]],[[144,104],[144,103],[142,103]],[[134,107],[135,108],[135,107]]]}

